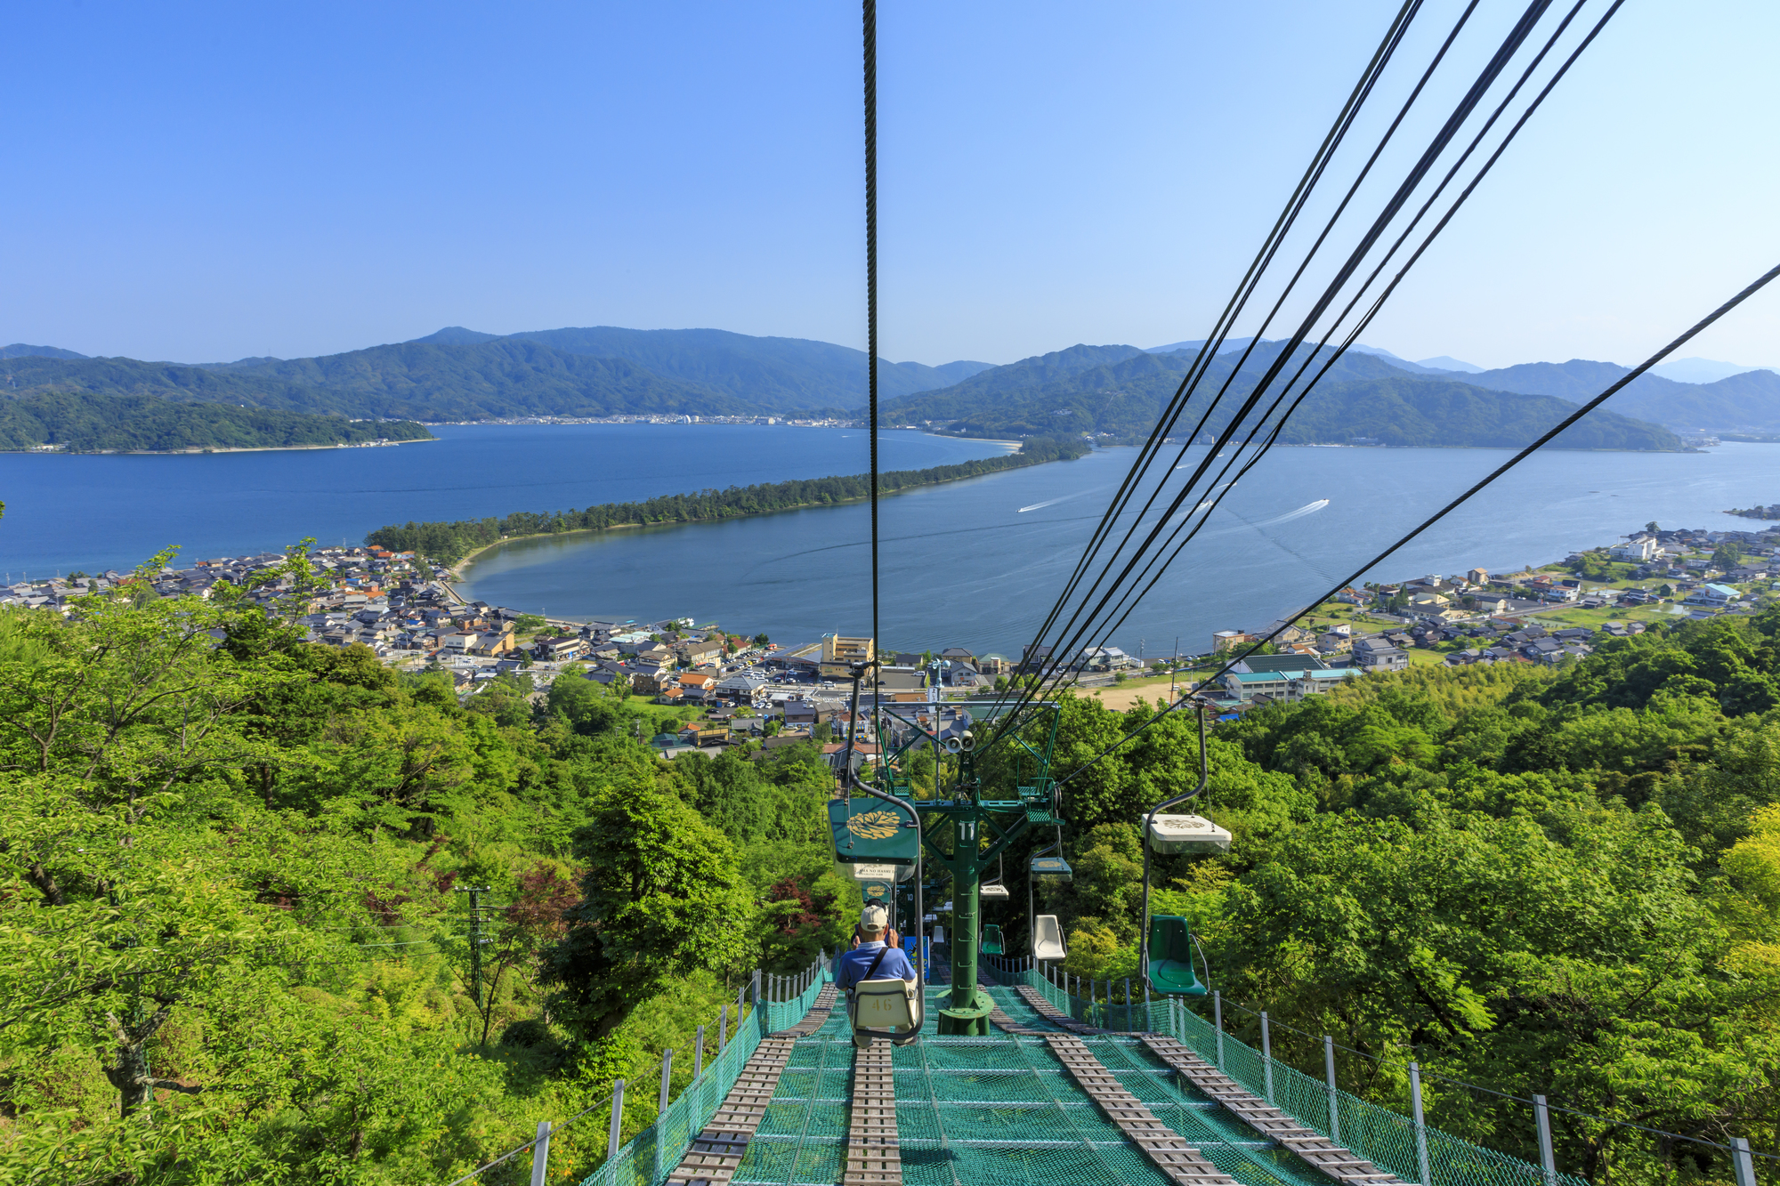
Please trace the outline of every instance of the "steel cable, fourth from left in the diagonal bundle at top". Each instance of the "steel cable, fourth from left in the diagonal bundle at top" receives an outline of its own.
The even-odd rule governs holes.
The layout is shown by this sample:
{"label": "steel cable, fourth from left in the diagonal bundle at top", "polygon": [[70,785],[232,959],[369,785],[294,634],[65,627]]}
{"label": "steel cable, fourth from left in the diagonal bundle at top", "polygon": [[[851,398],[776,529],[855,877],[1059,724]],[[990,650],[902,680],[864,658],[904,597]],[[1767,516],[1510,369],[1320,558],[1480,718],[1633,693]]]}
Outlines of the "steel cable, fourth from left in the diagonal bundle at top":
{"label": "steel cable, fourth from left in the diagonal bundle at top", "polygon": [[[1570,23],[1575,20],[1577,12],[1581,12],[1581,9],[1586,4],[1588,4],[1588,0],[1577,0],[1577,4],[1563,18],[1563,21],[1559,21],[1558,28],[1552,30],[1550,37],[1547,37],[1547,41],[1545,41],[1545,46],[1533,59],[1533,62],[1527,64],[1525,71],[1522,71],[1520,80],[1513,85],[1513,89],[1508,93],[1508,96],[1502,98],[1502,102],[1497,105],[1495,112],[1492,112],[1490,119],[1485,121],[1485,126],[1477,132],[1477,135],[1472,137],[1470,146],[1467,146],[1465,153],[1458,158],[1458,162],[1454,162],[1452,169],[1447,171],[1445,178],[1440,182],[1440,185],[1435,189],[1435,192],[1428,198],[1428,201],[1422,203],[1422,208],[1415,214],[1415,219],[1408,224],[1408,228],[1404,228],[1403,235],[1397,237],[1397,240],[1392,244],[1390,251],[1387,251],[1387,255],[1383,256],[1383,260],[1380,260],[1380,264],[1372,269],[1372,274],[1365,280],[1365,283],[1360,287],[1360,290],[1355,294],[1355,297],[1347,303],[1347,308],[1344,308],[1342,313],[1335,319],[1337,326],[1342,321],[1347,319],[1347,315],[1353,312],[1355,305],[1358,305],[1360,299],[1365,296],[1365,290],[1371,288],[1371,285],[1378,280],[1380,272],[1388,265],[1390,258],[1404,244],[1404,240],[1410,237],[1410,233],[1413,233],[1415,226],[1420,224],[1420,219],[1428,214],[1428,210],[1440,198],[1440,194],[1445,192],[1445,187],[1452,182],[1452,178],[1463,167],[1465,160],[1468,160],[1470,155],[1477,150],[1477,146],[1483,142],[1483,139],[1488,135],[1488,132],[1495,126],[1497,119],[1502,116],[1502,112],[1508,109],[1508,105],[1513,103],[1515,96],[1527,84],[1527,80],[1533,77],[1533,73],[1538,69],[1538,66],[1545,61],[1545,57],[1556,46],[1558,39],[1566,32],[1566,28],[1570,27]],[[1114,613],[1118,613],[1118,618],[1112,620],[1111,625],[1105,627],[1105,630],[1102,632],[1102,638],[1100,638],[1098,645],[1105,645],[1105,639],[1111,638],[1112,630],[1116,630],[1118,627],[1121,627],[1125,623],[1125,620],[1137,607],[1137,602],[1141,602],[1150,593],[1150,589],[1155,588],[1155,584],[1162,579],[1162,573],[1168,570],[1168,566],[1173,565],[1175,559],[1180,556],[1182,548],[1185,548],[1185,545],[1191,543],[1194,536],[1198,536],[1200,529],[1205,527],[1205,522],[1210,518],[1210,513],[1218,509],[1218,504],[1223,502],[1223,499],[1228,495],[1228,491],[1234,490],[1237,486],[1237,483],[1241,483],[1242,477],[1248,475],[1248,472],[1251,468],[1255,468],[1255,465],[1258,465],[1260,459],[1273,449],[1273,445],[1278,442],[1280,431],[1285,427],[1285,422],[1290,418],[1290,415],[1294,411],[1298,411],[1298,406],[1305,401],[1305,397],[1312,390],[1315,390],[1315,385],[1330,372],[1330,369],[1335,365],[1335,361],[1342,354],[1346,354],[1346,351],[1358,340],[1358,337],[1365,331],[1365,328],[1372,324],[1372,319],[1378,317],[1380,310],[1385,305],[1385,299],[1388,299],[1390,294],[1396,292],[1397,285],[1403,281],[1403,278],[1408,274],[1408,271],[1420,260],[1422,253],[1428,251],[1428,248],[1433,244],[1433,240],[1438,239],[1440,232],[1445,230],[1445,226],[1452,221],[1452,215],[1458,214],[1460,207],[1465,205],[1465,201],[1477,189],[1477,185],[1483,182],[1483,178],[1490,173],[1490,169],[1495,166],[1495,162],[1501,160],[1502,151],[1506,151],[1508,144],[1513,142],[1513,139],[1515,139],[1515,135],[1518,135],[1520,128],[1525,126],[1525,123],[1533,116],[1533,112],[1538,110],[1540,103],[1545,102],[1545,98],[1552,93],[1552,89],[1558,85],[1558,82],[1565,77],[1565,73],[1568,73],[1570,66],[1574,66],[1575,61],[1577,61],[1577,57],[1581,57],[1582,50],[1586,50],[1593,43],[1593,39],[1600,34],[1600,30],[1607,25],[1607,21],[1613,20],[1613,14],[1618,12],[1618,9],[1620,9],[1622,4],[1623,4],[1623,0],[1614,0],[1614,4],[1607,9],[1607,12],[1602,14],[1602,18],[1595,23],[1595,27],[1588,32],[1588,36],[1568,55],[1568,59],[1565,59],[1563,66],[1558,68],[1558,71],[1545,84],[1545,87],[1540,91],[1540,94],[1527,105],[1527,110],[1522,112],[1520,119],[1517,119],[1515,125],[1513,125],[1513,128],[1508,130],[1508,134],[1502,137],[1502,142],[1495,148],[1495,151],[1490,155],[1490,158],[1477,169],[1477,175],[1465,185],[1465,189],[1460,192],[1460,196],[1452,199],[1451,208],[1442,215],[1442,219],[1435,224],[1435,228],[1428,232],[1428,237],[1422,240],[1422,244],[1410,255],[1410,258],[1403,264],[1403,267],[1397,271],[1397,274],[1392,278],[1392,281],[1385,287],[1385,290],[1372,301],[1371,308],[1362,315],[1362,319],[1347,331],[1346,338],[1326,358],[1326,361],[1317,370],[1317,374],[1303,388],[1299,388],[1296,399],[1292,399],[1292,402],[1285,410],[1285,413],[1280,415],[1280,418],[1273,424],[1273,427],[1267,433],[1266,440],[1258,447],[1255,447],[1255,436],[1257,436],[1257,433],[1262,427],[1266,427],[1266,422],[1280,408],[1280,404],[1285,401],[1285,397],[1292,390],[1292,386],[1303,378],[1305,370],[1317,360],[1317,356],[1321,354],[1323,347],[1328,345],[1330,337],[1333,337],[1333,328],[1330,329],[1330,333],[1324,335],[1324,338],[1317,344],[1317,347],[1307,356],[1305,363],[1299,365],[1298,372],[1292,376],[1292,379],[1285,385],[1285,388],[1280,392],[1280,395],[1269,406],[1267,413],[1262,417],[1260,426],[1257,426],[1257,429],[1253,429],[1250,433],[1250,436],[1242,442],[1242,445],[1232,456],[1232,459],[1223,467],[1223,470],[1218,472],[1218,479],[1226,477],[1230,474],[1230,470],[1239,461],[1242,461],[1242,451],[1248,451],[1248,449],[1253,447],[1253,454],[1246,461],[1242,461],[1242,465],[1237,470],[1235,477],[1232,477],[1228,483],[1221,483],[1221,484],[1214,483],[1214,486],[1212,486],[1212,495],[1214,497],[1210,499],[1210,502],[1202,502],[1200,506],[1196,506],[1194,511],[1191,511],[1187,515],[1187,518],[1175,527],[1175,531],[1169,534],[1169,540],[1162,543],[1162,550],[1164,552],[1171,545],[1173,545],[1173,552],[1168,552],[1166,559],[1162,559],[1161,556],[1152,557],[1152,561],[1145,566],[1145,572],[1139,573],[1139,577],[1137,577],[1137,582],[1139,582],[1141,588],[1127,589],[1125,598],[1121,598],[1121,602],[1120,602],[1120,605],[1123,605],[1123,613],[1118,613],[1118,607],[1114,607]],[[1200,511],[1203,511],[1203,513],[1200,513]],[[1200,513],[1200,518],[1198,518],[1196,524],[1193,524],[1193,515],[1196,515],[1196,513]],[[1178,541],[1178,545],[1177,545],[1175,538],[1180,536],[1180,532],[1187,527],[1187,524],[1193,524],[1193,527],[1191,527],[1191,531],[1187,531],[1185,538],[1182,538]],[[1161,561],[1159,566],[1157,566],[1157,561]],[[1150,575],[1152,568],[1153,568],[1153,577]]]}

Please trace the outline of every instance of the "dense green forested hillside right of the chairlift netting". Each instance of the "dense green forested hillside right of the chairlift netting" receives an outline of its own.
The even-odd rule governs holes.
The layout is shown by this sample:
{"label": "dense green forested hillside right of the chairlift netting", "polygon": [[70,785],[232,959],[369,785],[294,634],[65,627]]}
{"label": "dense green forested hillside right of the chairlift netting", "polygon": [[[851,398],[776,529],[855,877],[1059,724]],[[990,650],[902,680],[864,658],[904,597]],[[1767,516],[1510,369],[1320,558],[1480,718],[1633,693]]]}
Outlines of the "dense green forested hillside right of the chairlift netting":
{"label": "dense green forested hillside right of the chairlift netting", "polygon": [[[1780,1113],[1780,609],[1525,664],[1367,677],[1210,741],[1228,855],[1162,858],[1225,1019],[1408,1109],[1406,1063],[1522,1099],[1773,1149]],[[1066,794],[1086,837],[1052,899],[1072,965],[1136,976],[1132,819],[1191,785],[1173,714]],[[1070,769],[1134,721],[1077,705]],[[1241,1011],[1244,1006],[1253,1011]],[[1303,1031],[1301,1036],[1296,1031]],[[1381,1061],[1371,1061],[1381,1060]],[[1429,1122],[1538,1161],[1522,1104],[1429,1081]],[[1595,1181],[1728,1181],[1721,1154],[1554,1113]]]}

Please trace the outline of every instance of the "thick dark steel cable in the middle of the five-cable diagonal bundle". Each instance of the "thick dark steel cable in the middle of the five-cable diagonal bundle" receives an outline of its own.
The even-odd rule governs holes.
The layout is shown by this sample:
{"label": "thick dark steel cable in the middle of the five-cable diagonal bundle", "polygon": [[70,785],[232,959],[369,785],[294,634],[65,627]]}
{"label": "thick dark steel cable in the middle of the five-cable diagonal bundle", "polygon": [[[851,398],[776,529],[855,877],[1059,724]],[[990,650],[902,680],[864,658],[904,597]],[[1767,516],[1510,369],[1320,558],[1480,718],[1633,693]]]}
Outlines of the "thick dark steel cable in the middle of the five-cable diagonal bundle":
{"label": "thick dark steel cable in the middle of the five-cable diagonal bundle", "polygon": [[[1187,484],[1169,502],[1168,509],[1157,518],[1155,525],[1145,536],[1143,543],[1136,548],[1136,552],[1125,563],[1125,566],[1118,572],[1116,579],[1109,584],[1107,591],[1093,605],[1093,611],[1088,614],[1088,620],[1084,621],[1084,625],[1063,645],[1063,650],[1066,654],[1073,652],[1075,646],[1080,645],[1082,638],[1089,634],[1089,630],[1093,629],[1093,625],[1096,621],[1104,621],[1102,614],[1105,613],[1107,602],[1114,597],[1114,593],[1120,591],[1120,588],[1125,584],[1125,581],[1130,579],[1132,570],[1137,566],[1137,563],[1143,559],[1143,556],[1148,552],[1148,548],[1155,545],[1157,536],[1166,529],[1168,522],[1180,509],[1182,502],[1185,502],[1185,499],[1194,491],[1194,488],[1198,486],[1198,481],[1203,477],[1205,470],[1218,459],[1218,454],[1232,442],[1232,438],[1237,435],[1237,431],[1241,431],[1242,422],[1246,422],[1248,417],[1253,413],[1255,404],[1260,402],[1260,399],[1266,395],[1266,390],[1273,385],[1273,381],[1280,376],[1280,372],[1289,365],[1290,356],[1303,345],[1303,342],[1308,337],[1312,326],[1315,326],[1315,322],[1321,321],[1323,315],[1328,312],[1328,306],[1335,303],[1340,288],[1344,288],[1347,285],[1347,281],[1353,278],[1353,274],[1360,269],[1362,262],[1365,260],[1367,255],[1371,255],[1372,248],[1383,237],[1383,233],[1388,228],[1388,224],[1396,221],[1397,214],[1401,214],[1401,210],[1408,203],[1410,196],[1415,192],[1415,189],[1420,187],[1420,183],[1426,178],[1426,175],[1433,169],[1435,162],[1445,153],[1447,146],[1458,135],[1458,132],[1465,125],[1465,121],[1470,119],[1472,112],[1483,102],[1485,94],[1490,91],[1490,87],[1495,85],[1497,78],[1501,78],[1502,71],[1513,61],[1515,53],[1520,52],[1520,46],[1525,45],[1527,37],[1533,34],[1533,30],[1538,25],[1540,18],[1550,7],[1550,2],[1552,0],[1533,0],[1527,5],[1527,9],[1520,14],[1520,18],[1515,21],[1513,28],[1509,28],[1508,36],[1497,46],[1495,53],[1483,66],[1483,69],[1477,73],[1477,78],[1465,91],[1465,96],[1458,102],[1458,105],[1454,107],[1454,110],[1447,116],[1447,119],[1440,126],[1440,130],[1431,137],[1428,148],[1422,150],[1422,155],[1417,158],[1417,162],[1410,169],[1408,176],[1404,176],[1404,180],[1397,185],[1396,192],[1392,194],[1390,201],[1385,205],[1383,212],[1372,221],[1371,228],[1365,232],[1365,235],[1360,239],[1360,242],[1353,248],[1353,251],[1349,251],[1349,256],[1347,256],[1346,264],[1340,267],[1340,271],[1337,272],[1337,276],[1326,285],[1326,288],[1324,288],[1323,296],[1317,299],[1315,306],[1299,322],[1299,328],[1292,333],[1292,337],[1287,340],[1285,347],[1278,353],[1278,356],[1267,367],[1267,370],[1264,372],[1264,376],[1260,378],[1260,381],[1255,385],[1255,388],[1250,392],[1250,395],[1244,399],[1242,406],[1237,410],[1237,413],[1230,420],[1230,424],[1226,424],[1225,429],[1219,431],[1219,436],[1218,436],[1216,443],[1207,451],[1205,459],[1202,459],[1200,465],[1194,468],[1193,475],[1187,479]],[[1232,372],[1232,379],[1234,378],[1235,378],[1235,372]],[[1182,452],[1185,452],[1185,449],[1182,449]],[[1116,554],[1114,554],[1114,559],[1107,563],[1107,572],[1111,572],[1111,568],[1112,568],[1114,563],[1116,563]],[[1105,573],[1102,573],[1102,575],[1105,575]],[[1096,581],[1095,588],[1098,588],[1098,581]],[[1080,613],[1082,613],[1084,607],[1086,607],[1086,598],[1084,598],[1084,605],[1079,607],[1077,614],[1072,616],[1072,623],[1077,618],[1080,618]],[[1054,678],[1052,687],[1061,687],[1068,678],[1070,678],[1068,671],[1064,670],[1064,675]]]}

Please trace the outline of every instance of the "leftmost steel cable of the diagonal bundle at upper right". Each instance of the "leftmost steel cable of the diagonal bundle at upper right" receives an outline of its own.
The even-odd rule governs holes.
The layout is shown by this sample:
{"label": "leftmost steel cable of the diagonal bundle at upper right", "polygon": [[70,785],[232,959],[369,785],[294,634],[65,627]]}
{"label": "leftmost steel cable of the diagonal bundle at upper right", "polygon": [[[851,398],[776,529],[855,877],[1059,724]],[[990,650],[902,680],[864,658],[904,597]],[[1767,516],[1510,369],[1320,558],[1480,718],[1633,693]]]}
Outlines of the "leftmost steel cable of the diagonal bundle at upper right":
{"label": "leftmost steel cable of the diagonal bundle at upper right", "polygon": [[[1104,534],[1111,529],[1111,524],[1116,520],[1120,508],[1123,506],[1123,500],[1129,497],[1127,490],[1130,490],[1136,483],[1141,483],[1143,475],[1148,472],[1148,467],[1161,452],[1161,445],[1166,442],[1168,431],[1178,418],[1180,415],[1178,408],[1185,406],[1184,401],[1191,397],[1193,390],[1198,388],[1203,372],[1212,365],[1212,361],[1216,361],[1218,349],[1228,338],[1230,329],[1235,324],[1235,319],[1242,313],[1250,296],[1253,296],[1255,288],[1258,287],[1262,274],[1273,264],[1273,256],[1285,242],[1285,235],[1296,224],[1298,215],[1308,203],[1312,191],[1321,182],[1323,173],[1328,169],[1328,164],[1333,158],[1335,150],[1340,148],[1340,142],[1346,139],[1347,130],[1358,118],[1360,109],[1371,96],[1372,87],[1378,84],[1378,78],[1383,75],[1397,46],[1403,43],[1403,36],[1408,32],[1410,23],[1415,20],[1415,14],[1419,11],[1420,11],[1420,0],[1406,0],[1404,5],[1397,11],[1396,20],[1385,30],[1385,37],[1380,41],[1378,50],[1374,50],[1371,62],[1367,62],[1367,68],[1365,71],[1362,71],[1360,80],[1355,84],[1353,93],[1347,96],[1347,102],[1337,114],[1335,123],[1323,137],[1323,144],[1312,157],[1310,166],[1299,178],[1298,187],[1287,198],[1285,208],[1274,221],[1273,230],[1262,240],[1260,249],[1250,262],[1248,271],[1242,274],[1242,280],[1237,283],[1235,294],[1232,294],[1230,301],[1225,306],[1225,312],[1219,315],[1218,322],[1214,322],[1212,335],[1207,337],[1207,340],[1202,344],[1198,356],[1194,356],[1193,363],[1187,367],[1187,374],[1175,388],[1175,395],[1169,401],[1169,410],[1175,410],[1173,415],[1166,415],[1164,410],[1164,415],[1157,418],[1157,426],[1155,429],[1152,429],[1150,438],[1139,451],[1137,461],[1132,463],[1132,468],[1121,481],[1120,490],[1112,497],[1112,502],[1102,515],[1100,525],[1089,536],[1089,545],[1084,547],[1082,559],[1077,561],[1075,572],[1070,575],[1064,593],[1056,600],[1056,604],[1050,609],[1050,614],[1040,627],[1034,645],[1041,643],[1043,636],[1050,632],[1050,625],[1054,623],[1056,614],[1059,614],[1063,607],[1068,604],[1070,591],[1075,588],[1075,582],[1093,563],[1093,556],[1098,552],[1098,543],[1102,541]],[[1022,700],[1020,707],[1024,707],[1024,703],[1025,702]]]}

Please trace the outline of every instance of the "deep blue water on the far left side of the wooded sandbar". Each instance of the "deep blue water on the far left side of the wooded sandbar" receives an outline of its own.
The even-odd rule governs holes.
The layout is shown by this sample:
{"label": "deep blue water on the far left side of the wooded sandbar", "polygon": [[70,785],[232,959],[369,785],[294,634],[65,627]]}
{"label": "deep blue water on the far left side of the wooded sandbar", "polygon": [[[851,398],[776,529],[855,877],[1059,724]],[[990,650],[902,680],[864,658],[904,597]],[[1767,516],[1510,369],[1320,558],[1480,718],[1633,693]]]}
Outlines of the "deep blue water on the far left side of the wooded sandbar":
{"label": "deep blue water on the far left side of the wooded sandbar", "polygon": [[[477,424],[388,449],[190,456],[0,452],[0,572],[130,568],[176,543],[185,561],[278,550],[304,536],[363,543],[384,524],[862,474],[863,433],[748,424]],[[1004,452],[993,442],[883,433],[886,470]]]}

